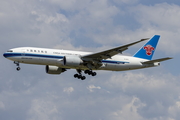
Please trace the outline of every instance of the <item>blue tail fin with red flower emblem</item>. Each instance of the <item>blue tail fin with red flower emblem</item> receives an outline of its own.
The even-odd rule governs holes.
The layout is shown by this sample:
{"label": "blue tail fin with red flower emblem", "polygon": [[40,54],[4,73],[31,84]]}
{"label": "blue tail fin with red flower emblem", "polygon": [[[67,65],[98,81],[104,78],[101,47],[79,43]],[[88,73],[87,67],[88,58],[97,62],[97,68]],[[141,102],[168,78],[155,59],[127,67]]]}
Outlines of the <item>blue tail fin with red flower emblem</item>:
{"label": "blue tail fin with red flower emblem", "polygon": [[134,57],[143,58],[147,60],[151,60],[154,52],[156,50],[156,46],[158,44],[160,36],[154,35],[135,55]]}

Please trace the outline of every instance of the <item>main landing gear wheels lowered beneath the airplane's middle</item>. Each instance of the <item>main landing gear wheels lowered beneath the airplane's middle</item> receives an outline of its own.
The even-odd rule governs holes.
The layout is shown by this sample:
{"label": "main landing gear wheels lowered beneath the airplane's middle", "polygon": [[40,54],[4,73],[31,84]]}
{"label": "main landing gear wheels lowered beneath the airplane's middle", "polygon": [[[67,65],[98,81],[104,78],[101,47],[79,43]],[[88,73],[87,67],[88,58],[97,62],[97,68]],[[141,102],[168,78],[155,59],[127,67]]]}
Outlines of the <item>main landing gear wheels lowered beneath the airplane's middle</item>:
{"label": "main landing gear wheels lowered beneath the airplane's middle", "polygon": [[[86,79],[86,77],[82,75],[82,70],[77,69],[77,72],[79,74],[74,74],[74,78],[78,78],[78,79],[81,79],[81,80]],[[85,70],[84,73],[88,74],[88,75],[96,76],[96,72],[93,72],[92,70]]]}

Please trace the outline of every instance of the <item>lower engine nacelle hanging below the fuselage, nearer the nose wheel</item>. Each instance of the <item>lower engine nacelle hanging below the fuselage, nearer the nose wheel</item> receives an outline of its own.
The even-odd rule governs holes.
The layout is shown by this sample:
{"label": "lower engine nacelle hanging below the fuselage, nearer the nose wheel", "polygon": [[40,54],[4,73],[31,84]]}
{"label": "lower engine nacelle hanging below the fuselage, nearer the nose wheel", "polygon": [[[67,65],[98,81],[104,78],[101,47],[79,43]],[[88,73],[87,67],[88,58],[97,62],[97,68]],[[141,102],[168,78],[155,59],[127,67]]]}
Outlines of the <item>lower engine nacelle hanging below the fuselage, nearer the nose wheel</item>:
{"label": "lower engine nacelle hanging below the fuselage, nearer the nose wheel", "polygon": [[61,74],[62,72],[64,72],[64,68],[46,65],[46,73],[48,74]]}

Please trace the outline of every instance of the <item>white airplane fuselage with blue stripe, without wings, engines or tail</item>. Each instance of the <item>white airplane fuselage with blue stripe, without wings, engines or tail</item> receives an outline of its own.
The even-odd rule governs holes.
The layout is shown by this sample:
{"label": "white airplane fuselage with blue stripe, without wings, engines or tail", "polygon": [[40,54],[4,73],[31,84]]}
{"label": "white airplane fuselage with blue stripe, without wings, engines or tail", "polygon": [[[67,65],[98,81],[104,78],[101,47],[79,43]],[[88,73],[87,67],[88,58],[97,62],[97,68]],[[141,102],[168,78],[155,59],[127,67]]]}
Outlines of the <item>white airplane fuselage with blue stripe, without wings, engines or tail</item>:
{"label": "white airplane fuselage with blue stripe, without wings, engines or tail", "polygon": [[[37,65],[52,65],[58,66],[65,69],[88,69],[87,66],[66,66],[63,64],[64,56],[75,56],[80,57],[83,55],[91,54],[90,52],[70,51],[70,50],[59,50],[59,49],[45,49],[35,47],[20,47],[9,50],[4,53],[4,57],[26,64],[37,64]],[[110,70],[110,71],[124,71],[141,69],[145,67],[153,67],[158,64],[142,64],[142,62],[148,61],[146,59],[115,55],[111,59],[102,60],[102,66],[94,70]]]}

